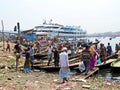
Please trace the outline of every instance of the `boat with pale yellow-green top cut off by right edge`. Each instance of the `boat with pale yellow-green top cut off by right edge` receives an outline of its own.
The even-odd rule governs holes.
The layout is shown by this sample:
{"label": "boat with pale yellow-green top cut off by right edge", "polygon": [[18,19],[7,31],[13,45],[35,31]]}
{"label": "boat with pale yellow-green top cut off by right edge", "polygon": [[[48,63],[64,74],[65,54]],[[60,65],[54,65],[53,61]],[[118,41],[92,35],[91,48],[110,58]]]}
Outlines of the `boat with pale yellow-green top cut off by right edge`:
{"label": "boat with pale yellow-green top cut off by right edge", "polygon": [[120,58],[110,64],[113,72],[120,72]]}

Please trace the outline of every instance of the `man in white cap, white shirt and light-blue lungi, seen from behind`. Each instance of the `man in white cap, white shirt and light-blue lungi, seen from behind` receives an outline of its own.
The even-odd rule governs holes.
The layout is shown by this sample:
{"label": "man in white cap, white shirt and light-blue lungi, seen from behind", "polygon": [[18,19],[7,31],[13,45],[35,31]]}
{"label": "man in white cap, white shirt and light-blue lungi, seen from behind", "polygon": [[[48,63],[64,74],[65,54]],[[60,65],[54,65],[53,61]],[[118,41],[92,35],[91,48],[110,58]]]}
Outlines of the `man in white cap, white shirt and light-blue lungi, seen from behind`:
{"label": "man in white cap, white shirt and light-blue lungi, seen from behind", "polygon": [[67,54],[67,48],[64,47],[62,49],[62,52],[60,53],[60,71],[59,71],[59,76],[61,79],[63,79],[62,83],[68,82],[68,75],[70,72],[69,69],[69,60],[68,60],[68,54]]}

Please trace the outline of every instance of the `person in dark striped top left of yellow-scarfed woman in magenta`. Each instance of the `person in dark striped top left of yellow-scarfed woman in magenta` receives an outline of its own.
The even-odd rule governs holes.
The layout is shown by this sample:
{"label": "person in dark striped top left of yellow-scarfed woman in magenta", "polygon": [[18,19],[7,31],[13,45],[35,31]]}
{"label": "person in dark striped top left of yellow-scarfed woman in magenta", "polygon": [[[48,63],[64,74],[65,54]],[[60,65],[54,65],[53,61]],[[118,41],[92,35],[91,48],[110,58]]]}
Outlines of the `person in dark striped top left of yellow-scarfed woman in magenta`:
{"label": "person in dark striped top left of yellow-scarfed woman in magenta", "polygon": [[90,70],[90,51],[88,45],[85,45],[85,49],[82,51],[82,61],[85,65],[85,75],[87,75]]}

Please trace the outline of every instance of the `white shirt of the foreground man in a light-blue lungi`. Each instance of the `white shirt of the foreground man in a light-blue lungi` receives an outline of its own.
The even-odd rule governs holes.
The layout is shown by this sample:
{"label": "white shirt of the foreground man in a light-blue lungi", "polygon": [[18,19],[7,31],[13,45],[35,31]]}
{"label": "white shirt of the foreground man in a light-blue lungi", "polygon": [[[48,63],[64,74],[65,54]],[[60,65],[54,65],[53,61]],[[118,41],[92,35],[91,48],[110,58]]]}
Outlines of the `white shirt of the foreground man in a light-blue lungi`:
{"label": "white shirt of the foreground man in a light-blue lungi", "polygon": [[60,53],[60,67],[69,66],[68,54],[66,52]]}

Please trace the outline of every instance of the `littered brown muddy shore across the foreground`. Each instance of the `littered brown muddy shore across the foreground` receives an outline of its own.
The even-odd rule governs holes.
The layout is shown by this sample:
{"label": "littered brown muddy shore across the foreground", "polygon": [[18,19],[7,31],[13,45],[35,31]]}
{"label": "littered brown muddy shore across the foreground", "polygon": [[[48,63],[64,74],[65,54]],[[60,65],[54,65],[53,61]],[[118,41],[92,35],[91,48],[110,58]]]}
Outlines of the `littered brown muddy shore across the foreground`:
{"label": "littered brown muddy shore across the foreground", "polygon": [[[16,72],[14,58],[13,52],[0,50],[0,90],[120,90],[120,82],[95,76],[83,80],[79,75],[70,75],[68,83],[61,84],[58,72],[36,70],[24,73],[20,68]],[[20,62],[21,67],[24,58]]]}

